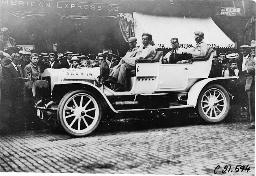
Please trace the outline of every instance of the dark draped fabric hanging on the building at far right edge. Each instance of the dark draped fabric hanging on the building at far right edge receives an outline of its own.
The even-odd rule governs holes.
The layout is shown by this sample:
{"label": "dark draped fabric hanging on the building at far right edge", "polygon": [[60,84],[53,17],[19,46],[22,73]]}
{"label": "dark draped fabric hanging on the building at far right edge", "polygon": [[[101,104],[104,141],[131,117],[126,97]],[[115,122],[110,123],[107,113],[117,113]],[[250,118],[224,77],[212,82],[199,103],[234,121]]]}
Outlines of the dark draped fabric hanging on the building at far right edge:
{"label": "dark draped fabric hanging on the building at far right edge", "polygon": [[255,16],[250,16],[244,26],[244,43],[250,45],[251,40],[255,40]]}

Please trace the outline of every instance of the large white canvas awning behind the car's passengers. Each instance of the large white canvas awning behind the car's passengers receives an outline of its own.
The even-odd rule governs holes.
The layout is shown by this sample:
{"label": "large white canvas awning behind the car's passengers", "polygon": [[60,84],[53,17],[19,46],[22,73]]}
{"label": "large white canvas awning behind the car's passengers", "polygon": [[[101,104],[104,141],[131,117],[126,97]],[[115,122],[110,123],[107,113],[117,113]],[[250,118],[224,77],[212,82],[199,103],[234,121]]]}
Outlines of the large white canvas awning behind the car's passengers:
{"label": "large white canvas awning behind the car's passengers", "polygon": [[234,48],[235,43],[209,18],[186,18],[176,16],[153,16],[133,13],[134,33],[137,45],[141,45],[141,35],[150,33],[156,49],[172,48],[171,38],[179,40],[180,48],[195,47],[195,31],[204,33],[204,42],[210,48]]}

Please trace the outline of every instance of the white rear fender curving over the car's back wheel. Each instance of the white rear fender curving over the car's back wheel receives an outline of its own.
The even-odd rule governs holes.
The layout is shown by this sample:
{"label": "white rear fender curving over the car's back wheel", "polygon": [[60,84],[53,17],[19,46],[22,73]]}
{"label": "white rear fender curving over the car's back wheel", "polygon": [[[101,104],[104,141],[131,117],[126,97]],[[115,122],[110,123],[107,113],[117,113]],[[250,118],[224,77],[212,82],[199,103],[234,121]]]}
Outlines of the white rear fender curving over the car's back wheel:
{"label": "white rear fender curving over the car's back wheel", "polygon": [[194,107],[197,106],[197,99],[204,88],[204,86],[210,82],[216,81],[216,80],[224,80],[224,79],[234,79],[239,78],[238,76],[232,76],[232,77],[216,77],[216,78],[207,78],[201,81],[198,81],[195,83],[188,92],[188,98],[187,98],[187,105],[193,105]]}

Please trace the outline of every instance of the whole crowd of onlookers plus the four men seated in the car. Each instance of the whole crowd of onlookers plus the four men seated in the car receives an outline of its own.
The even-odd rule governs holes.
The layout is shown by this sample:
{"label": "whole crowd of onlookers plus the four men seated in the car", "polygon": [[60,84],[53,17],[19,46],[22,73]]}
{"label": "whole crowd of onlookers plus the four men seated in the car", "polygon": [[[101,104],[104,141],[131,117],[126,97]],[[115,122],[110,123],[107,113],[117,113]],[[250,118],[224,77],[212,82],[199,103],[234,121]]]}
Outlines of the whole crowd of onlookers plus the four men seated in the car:
{"label": "whole crowd of onlookers plus the four men seated in the car", "polygon": [[[104,81],[106,86],[111,87],[116,92],[124,91],[124,82],[126,80],[127,70],[135,70],[135,60],[153,59],[156,55],[156,49],[152,35],[142,34],[143,47],[137,47],[137,38],[128,39],[129,50],[122,57],[121,61],[110,69],[109,77]],[[195,48],[179,48],[178,38],[171,38],[173,48],[163,57],[163,64],[170,63],[173,53],[182,53],[192,55],[192,57],[204,57],[209,49],[206,42],[203,41],[204,33],[195,31]],[[6,27],[1,29],[1,59],[0,59],[0,129],[23,130],[24,119],[17,118],[26,113],[23,105],[31,103],[33,106],[33,95],[31,82],[41,79],[41,75],[47,68],[73,68],[86,69],[98,67],[101,63],[109,61],[104,53],[99,53],[97,59],[90,55],[80,55],[72,51],[63,53],[41,52],[35,49],[30,52],[20,51],[15,39],[9,37],[9,30]],[[250,116],[250,129],[255,128],[255,40],[249,45],[240,47],[243,58],[239,58],[238,53],[220,53],[219,57],[213,57],[211,72],[209,77],[229,77],[239,75],[238,91],[240,94],[237,99],[237,107],[234,108],[237,116],[241,116],[241,108],[247,107]],[[184,59],[176,62],[177,64],[189,63]],[[112,88],[112,87],[111,87]],[[246,96],[247,94],[247,96]],[[248,103],[247,103],[248,102]],[[249,107],[249,108],[248,108]],[[33,107],[32,107],[33,108]],[[23,117],[23,116],[22,116]],[[11,121],[11,123],[10,123]]]}

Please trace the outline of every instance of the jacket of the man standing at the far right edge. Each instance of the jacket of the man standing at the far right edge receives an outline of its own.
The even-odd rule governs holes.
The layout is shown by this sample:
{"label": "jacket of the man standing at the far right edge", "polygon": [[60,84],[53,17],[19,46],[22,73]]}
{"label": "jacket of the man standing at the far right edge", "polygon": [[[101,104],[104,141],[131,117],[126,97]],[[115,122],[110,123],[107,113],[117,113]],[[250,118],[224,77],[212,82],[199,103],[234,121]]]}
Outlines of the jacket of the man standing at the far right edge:
{"label": "jacket of the man standing at the far right edge", "polygon": [[[244,71],[245,75],[247,75],[247,79],[245,82],[245,91],[250,90],[250,87],[252,86],[253,83],[253,79],[255,77],[255,61],[254,61],[254,57],[252,57],[252,55],[250,57],[248,57],[245,61],[245,68],[247,68],[247,70]],[[248,72],[247,72],[248,71]]]}

